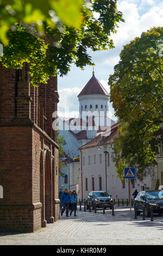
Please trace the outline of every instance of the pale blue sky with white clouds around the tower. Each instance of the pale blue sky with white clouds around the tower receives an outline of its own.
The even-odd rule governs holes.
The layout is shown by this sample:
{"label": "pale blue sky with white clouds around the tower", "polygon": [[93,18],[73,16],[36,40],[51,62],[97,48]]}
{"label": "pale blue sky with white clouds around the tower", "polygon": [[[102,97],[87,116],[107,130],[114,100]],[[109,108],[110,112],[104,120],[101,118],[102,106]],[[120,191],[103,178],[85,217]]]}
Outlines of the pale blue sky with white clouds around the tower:
{"label": "pale blue sky with white clouds around the tower", "polygon": [[[152,27],[163,26],[163,1],[162,0],[119,0],[117,9],[122,11],[125,22],[118,23],[117,33],[112,34],[115,48],[108,51],[87,52],[95,63],[95,76],[110,92],[108,78],[114,73],[114,66],[120,60],[119,55],[123,46],[128,44],[136,36]],[[58,115],[65,116],[65,107],[70,109],[70,117],[78,117],[79,103],[78,94],[92,76],[92,66],[87,65],[81,70],[72,65],[71,71],[64,77],[58,76],[58,92],[60,102],[58,103]],[[109,113],[112,119],[114,109],[109,103]]]}

